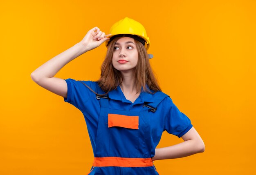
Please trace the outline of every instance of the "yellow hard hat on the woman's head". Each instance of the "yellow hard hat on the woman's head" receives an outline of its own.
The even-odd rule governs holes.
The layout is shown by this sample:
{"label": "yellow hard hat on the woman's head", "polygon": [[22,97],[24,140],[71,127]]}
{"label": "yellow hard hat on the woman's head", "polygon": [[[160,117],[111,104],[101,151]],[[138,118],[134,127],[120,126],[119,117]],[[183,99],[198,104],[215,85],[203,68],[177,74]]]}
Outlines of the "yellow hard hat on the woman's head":
{"label": "yellow hard hat on the woman's head", "polygon": [[128,36],[130,38],[138,40],[145,46],[146,50],[148,50],[150,46],[150,41],[143,25],[128,17],[121,19],[113,24],[110,28],[109,33],[111,33],[112,35],[109,36],[110,40],[106,41],[106,47],[108,47],[108,44],[113,38],[119,36]]}

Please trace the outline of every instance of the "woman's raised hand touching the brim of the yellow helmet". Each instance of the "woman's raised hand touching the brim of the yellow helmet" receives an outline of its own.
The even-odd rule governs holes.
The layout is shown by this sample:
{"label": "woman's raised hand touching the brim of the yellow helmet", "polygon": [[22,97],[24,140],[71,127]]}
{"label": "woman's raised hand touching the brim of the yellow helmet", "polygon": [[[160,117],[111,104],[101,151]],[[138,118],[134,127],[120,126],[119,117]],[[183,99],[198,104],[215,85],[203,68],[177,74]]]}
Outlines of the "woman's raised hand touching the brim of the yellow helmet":
{"label": "woman's raised hand touching the brim of the yellow helmet", "polygon": [[86,33],[85,37],[80,43],[83,44],[86,51],[90,51],[96,47],[99,47],[106,40],[109,40],[107,37],[110,35],[111,34],[106,35],[98,27],[94,27]]}

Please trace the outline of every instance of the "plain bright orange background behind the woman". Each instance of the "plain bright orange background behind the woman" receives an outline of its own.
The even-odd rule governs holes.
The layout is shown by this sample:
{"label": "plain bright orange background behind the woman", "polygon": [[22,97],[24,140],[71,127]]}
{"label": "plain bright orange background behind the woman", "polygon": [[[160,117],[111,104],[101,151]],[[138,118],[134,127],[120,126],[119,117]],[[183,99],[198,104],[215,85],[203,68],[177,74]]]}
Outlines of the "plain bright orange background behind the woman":
{"label": "plain bright orange background behind the woman", "polygon": [[[256,174],[256,1],[37,0],[0,2],[1,175],[85,175],[92,148],[81,111],[31,72],[129,17],[144,25],[162,90],[192,121],[205,152],[155,161],[161,175]],[[97,80],[101,45],[56,74]],[[158,147],[182,142],[163,134]]]}

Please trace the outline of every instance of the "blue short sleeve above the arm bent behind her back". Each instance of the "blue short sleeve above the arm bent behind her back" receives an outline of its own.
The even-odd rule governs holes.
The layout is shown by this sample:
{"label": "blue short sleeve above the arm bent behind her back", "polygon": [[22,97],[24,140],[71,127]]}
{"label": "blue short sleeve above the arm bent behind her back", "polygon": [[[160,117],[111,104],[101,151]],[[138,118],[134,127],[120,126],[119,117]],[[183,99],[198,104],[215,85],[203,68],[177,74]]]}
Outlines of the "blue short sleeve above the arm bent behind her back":
{"label": "blue short sleeve above the arm bent behind her back", "polygon": [[168,114],[165,118],[164,130],[168,133],[182,137],[186,132],[192,128],[191,121],[184,113],[173,104],[171,98],[168,97],[168,103],[171,104]]}

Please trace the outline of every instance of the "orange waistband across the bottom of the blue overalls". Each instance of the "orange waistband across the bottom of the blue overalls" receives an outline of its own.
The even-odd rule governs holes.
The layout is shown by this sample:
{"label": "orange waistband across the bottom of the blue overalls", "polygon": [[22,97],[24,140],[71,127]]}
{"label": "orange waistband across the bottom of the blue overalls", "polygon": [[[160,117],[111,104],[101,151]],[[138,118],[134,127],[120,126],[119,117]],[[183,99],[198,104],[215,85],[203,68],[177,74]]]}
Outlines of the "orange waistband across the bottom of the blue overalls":
{"label": "orange waistband across the bottom of the blue overalls", "polygon": [[147,167],[153,162],[151,158],[94,157],[92,166]]}

